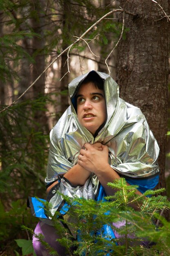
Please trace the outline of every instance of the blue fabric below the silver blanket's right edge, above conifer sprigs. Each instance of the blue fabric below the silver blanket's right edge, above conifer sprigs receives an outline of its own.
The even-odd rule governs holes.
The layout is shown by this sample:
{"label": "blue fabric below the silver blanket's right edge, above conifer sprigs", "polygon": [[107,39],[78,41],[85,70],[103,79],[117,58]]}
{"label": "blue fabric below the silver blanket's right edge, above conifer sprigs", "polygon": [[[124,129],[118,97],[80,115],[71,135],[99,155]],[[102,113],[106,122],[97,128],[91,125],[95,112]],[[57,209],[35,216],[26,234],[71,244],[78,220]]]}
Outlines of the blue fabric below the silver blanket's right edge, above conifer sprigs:
{"label": "blue fabric below the silver blanket's right edge, above conifer sprigs", "polygon": [[126,178],[126,181],[130,185],[138,185],[138,190],[144,193],[148,189],[154,189],[159,182],[159,174],[154,177],[148,177],[147,179],[130,179]]}

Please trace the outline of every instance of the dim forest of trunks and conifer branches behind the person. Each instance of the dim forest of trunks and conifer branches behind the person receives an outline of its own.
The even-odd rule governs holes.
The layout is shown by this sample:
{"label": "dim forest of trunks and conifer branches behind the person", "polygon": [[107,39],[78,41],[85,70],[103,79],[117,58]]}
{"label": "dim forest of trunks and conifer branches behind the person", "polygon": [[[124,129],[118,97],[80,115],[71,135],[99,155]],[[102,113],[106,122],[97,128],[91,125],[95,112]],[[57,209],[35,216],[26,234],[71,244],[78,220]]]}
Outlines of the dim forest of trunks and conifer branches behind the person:
{"label": "dim forest of trunks and conifer branches behind the person", "polygon": [[[170,197],[169,0],[0,1],[0,252],[35,227],[28,196],[46,198],[49,132],[68,83],[110,74],[141,108],[160,147],[158,188]],[[36,82],[35,82],[36,80]]]}

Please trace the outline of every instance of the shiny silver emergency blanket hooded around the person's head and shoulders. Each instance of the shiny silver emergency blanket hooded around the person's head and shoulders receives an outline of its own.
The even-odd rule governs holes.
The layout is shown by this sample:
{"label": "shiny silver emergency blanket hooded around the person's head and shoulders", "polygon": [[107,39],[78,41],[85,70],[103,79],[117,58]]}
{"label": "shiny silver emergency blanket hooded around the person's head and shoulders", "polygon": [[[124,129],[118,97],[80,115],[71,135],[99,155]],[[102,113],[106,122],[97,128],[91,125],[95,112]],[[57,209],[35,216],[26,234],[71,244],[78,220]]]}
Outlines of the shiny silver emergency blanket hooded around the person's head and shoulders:
{"label": "shiny silver emergency blanket hooded around the person's head and shoulders", "polygon": [[[66,173],[77,164],[79,151],[85,143],[96,142],[108,146],[109,164],[120,175],[147,178],[157,174],[159,172],[157,164],[159,146],[141,110],[119,98],[118,85],[108,74],[91,72],[96,72],[104,80],[106,123],[96,137],[93,137],[91,132],[79,124],[73,99],[79,85],[89,72],[78,76],[68,85],[71,106],[50,132],[51,142],[45,182],[47,184],[53,182],[58,174]],[[59,189],[61,193],[64,192],[71,197],[74,195],[81,197],[83,190],[86,191],[86,195],[84,192],[85,198],[89,198],[88,186],[91,191],[91,184],[93,185],[95,195],[99,184],[95,175],[88,179],[83,189],[80,186],[68,188],[64,180],[61,182],[63,184]],[[91,194],[90,197],[93,198],[94,195]],[[59,201],[61,197],[57,194],[50,201],[55,208],[54,212],[59,206]]]}

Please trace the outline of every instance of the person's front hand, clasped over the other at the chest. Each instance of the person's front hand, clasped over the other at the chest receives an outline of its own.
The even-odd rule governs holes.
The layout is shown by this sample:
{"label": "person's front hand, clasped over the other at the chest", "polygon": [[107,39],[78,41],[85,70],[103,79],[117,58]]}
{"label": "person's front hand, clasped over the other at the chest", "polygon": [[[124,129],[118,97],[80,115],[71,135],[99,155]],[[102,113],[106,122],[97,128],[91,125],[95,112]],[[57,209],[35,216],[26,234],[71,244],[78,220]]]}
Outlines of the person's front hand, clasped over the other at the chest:
{"label": "person's front hand, clasped over the other at the chest", "polygon": [[86,170],[98,174],[109,166],[108,147],[100,143],[96,144],[98,145],[88,143],[84,145],[85,149],[81,149],[78,156],[78,164]]}

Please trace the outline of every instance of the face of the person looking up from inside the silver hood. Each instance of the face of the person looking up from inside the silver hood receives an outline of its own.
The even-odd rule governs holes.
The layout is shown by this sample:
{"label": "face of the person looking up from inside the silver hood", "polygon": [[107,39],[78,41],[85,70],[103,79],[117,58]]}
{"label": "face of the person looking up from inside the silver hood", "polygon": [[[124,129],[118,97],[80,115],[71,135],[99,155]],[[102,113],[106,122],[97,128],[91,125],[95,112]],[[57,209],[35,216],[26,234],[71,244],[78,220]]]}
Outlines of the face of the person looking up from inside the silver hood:
{"label": "face of the person looking up from inside the silver hood", "polygon": [[77,117],[79,123],[93,135],[106,119],[104,91],[92,82],[80,86],[77,92]]}

